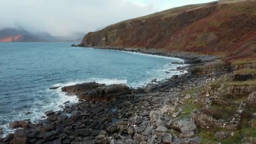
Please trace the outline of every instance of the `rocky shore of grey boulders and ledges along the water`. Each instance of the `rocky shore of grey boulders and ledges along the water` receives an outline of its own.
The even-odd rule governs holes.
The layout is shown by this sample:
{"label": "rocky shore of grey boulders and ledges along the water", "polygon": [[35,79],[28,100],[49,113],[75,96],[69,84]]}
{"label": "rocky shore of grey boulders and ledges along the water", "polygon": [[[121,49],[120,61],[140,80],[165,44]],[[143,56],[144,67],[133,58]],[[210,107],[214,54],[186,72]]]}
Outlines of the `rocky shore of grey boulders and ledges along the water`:
{"label": "rocky shore of grey boulders and ledges along the water", "polygon": [[[17,130],[0,139],[0,144],[204,144],[236,138],[244,117],[255,128],[254,109],[247,112],[255,93],[243,90],[250,96],[239,101],[227,93],[227,85],[233,86],[227,84],[234,79],[232,64],[202,55],[187,56],[187,63],[191,64],[188,73],[152,80],[137,89],[95,82],[62,87],[68,95],[78,96],[79,102],[67,101],[59,106],[61,111],[45,112],[39,123],[10,123]],[[234,110],[228,109],[226,116],[223,105]],[[219,108],[224,112],[219,114]],[[245,142],[254,144],[256,139],[248,137]]]}

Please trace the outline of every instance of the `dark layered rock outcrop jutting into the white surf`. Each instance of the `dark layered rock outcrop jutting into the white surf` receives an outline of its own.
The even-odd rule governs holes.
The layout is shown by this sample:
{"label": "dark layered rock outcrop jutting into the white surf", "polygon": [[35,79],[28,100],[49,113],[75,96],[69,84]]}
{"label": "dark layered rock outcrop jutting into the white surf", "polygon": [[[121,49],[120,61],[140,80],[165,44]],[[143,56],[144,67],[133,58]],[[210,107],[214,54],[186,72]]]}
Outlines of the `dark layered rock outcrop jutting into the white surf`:
{"label": "dark layered rock outcrop jutting into the white surf", "polygon": [[125,84],[105,85],[96,82],[82,83],[61,88],[67,93],[74,93],[79,99],[107,101],[115,96],[130,93],[130,88]]}

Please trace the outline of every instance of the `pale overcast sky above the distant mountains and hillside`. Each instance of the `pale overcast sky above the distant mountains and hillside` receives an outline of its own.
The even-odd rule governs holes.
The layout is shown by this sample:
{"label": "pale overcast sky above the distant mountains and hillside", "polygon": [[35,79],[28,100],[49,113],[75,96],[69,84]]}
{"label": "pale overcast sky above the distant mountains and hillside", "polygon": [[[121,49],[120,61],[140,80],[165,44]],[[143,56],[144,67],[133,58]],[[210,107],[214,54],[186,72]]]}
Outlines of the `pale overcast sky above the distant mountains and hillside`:
{"label": "pale overcast sky above the distant mountains and hillside", "polygon": [[54,36],[89,32],[126,19],[213,0],[0,0],[0,29],[23,27]]}

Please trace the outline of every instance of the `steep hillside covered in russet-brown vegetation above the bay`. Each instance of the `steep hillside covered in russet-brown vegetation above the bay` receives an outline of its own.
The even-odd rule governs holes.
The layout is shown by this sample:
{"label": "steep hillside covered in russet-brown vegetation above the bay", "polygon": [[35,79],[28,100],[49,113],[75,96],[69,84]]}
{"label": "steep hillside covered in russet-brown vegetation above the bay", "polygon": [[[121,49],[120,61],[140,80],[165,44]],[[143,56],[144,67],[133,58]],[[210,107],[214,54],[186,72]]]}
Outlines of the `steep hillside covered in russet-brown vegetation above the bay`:
{"label": "steep hillside covered in russet-brown vegetation above the bay", "polygon": [[255,19],[256,0],[185,5],[89,32],[80,45],[224,54],[228,59],[254,57]]}

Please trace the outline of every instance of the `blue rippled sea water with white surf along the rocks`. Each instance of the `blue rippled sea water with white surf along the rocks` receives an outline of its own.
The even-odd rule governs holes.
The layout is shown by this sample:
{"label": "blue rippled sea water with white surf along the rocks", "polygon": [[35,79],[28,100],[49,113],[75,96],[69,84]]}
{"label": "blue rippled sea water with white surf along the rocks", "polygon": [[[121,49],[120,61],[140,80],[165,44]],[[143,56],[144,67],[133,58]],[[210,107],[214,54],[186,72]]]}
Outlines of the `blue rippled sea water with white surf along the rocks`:
{"label": "blue rippled sea water with white surf along the rocks", "polygon": [[[179,75],[181,59],[140,53],[70,47],[72,43],[0,43],[0,125],[4,133],[14,120],[40,120],[65,101],[77,102],[52,86],[96,81],[136,88],[152,79]],[[27,112],[31,114],[26,115]]]}

